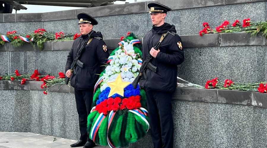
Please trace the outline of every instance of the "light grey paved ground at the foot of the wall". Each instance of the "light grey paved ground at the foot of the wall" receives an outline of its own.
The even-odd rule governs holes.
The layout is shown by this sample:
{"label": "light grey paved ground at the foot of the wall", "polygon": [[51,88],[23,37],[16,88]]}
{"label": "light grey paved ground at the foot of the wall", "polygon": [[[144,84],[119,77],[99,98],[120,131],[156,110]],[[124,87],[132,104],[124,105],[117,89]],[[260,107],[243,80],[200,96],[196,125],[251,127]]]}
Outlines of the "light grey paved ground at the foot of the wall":
{"label": "light grey paved ground at the foot of the wall", "polygon": [[[77,141],[36,133],[0,132],[0,148],[70,148],[69,145],[75,142]],[[97,145],[95,148],[104,147]]]}

